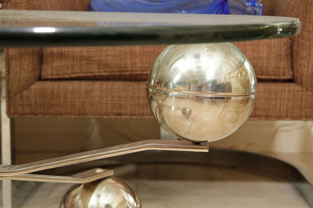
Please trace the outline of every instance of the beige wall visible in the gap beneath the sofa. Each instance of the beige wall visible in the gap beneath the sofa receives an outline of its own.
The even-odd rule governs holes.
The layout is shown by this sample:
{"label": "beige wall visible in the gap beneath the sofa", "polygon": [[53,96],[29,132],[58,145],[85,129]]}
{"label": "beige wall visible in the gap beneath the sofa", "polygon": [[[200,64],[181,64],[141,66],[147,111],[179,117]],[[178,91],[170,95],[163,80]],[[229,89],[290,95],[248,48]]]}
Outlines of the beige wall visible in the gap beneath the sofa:
{"label": "beige wall visible in the gap beneath the sofa", "polygon": [[[210,147],[313,158],[312,125],[312,121],[247,121]],[[154,119],[15,119],[17,164],[159,138]]]}

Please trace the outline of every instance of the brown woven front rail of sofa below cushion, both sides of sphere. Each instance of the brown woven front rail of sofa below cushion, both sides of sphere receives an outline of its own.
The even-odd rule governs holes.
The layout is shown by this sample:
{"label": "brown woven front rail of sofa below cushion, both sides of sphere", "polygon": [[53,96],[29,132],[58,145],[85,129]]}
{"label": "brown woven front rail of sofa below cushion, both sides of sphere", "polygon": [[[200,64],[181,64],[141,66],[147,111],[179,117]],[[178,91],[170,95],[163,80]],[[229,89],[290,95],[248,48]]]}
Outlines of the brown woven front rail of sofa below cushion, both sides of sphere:
{"label": "brown woven front rail of sofa below cushion, both sides of sphere", "polygon": [[[10,117],[152,118],[144,81],[38,81],[10,99]],[[312,106],[295,83],[261,82],[250,119],[312,119]]]}

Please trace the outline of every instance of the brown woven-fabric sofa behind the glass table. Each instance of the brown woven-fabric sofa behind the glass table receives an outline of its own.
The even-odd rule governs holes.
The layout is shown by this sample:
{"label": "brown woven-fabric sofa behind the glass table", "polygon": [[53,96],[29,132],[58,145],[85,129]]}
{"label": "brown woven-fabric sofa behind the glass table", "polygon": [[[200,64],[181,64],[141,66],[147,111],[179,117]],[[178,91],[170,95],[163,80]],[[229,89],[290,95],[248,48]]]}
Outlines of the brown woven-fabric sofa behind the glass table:
{"label": "brown woven-fabric sofa behind the glass table", "polygon": [[[0,0],[3,9],[87,11],[89,0]],[[293,38],[235,43],[258,94],[250,119],[313,120],[313,0],[264,0],[264,15],[299,17]],[[145,81],[166,46],[6,49],[7,114],[152,118]]]}

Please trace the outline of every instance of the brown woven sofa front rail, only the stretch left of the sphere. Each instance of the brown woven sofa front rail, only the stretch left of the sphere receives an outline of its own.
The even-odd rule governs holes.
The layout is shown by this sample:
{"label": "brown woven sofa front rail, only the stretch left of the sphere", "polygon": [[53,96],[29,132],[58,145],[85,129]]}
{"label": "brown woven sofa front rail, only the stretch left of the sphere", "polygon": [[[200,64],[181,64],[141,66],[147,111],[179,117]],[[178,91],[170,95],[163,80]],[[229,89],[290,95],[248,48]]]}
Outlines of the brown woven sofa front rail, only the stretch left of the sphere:
{"label": "brown woven sofa front rail, only the stretch left of the sphere", "polygon": [[144,81],[38,81],[10,102],[10,117],[152,118]]}

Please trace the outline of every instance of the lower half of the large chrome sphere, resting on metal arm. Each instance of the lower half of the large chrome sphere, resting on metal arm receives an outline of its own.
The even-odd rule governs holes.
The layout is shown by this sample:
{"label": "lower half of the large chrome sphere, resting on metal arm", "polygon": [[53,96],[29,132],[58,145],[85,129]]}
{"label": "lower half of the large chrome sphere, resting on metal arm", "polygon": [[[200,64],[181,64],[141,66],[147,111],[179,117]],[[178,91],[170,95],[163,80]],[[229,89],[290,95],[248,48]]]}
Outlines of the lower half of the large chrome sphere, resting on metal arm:
{"label": "lower half of the large chrome sphere, resting on metal arm", "polygon": [[197,96],[150,88],[147,97],[153,116],[165,130],[194,143],[234,133],[249,118],[255,101],[255,95]]}

